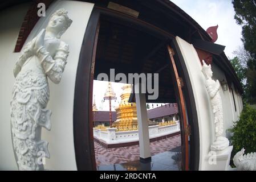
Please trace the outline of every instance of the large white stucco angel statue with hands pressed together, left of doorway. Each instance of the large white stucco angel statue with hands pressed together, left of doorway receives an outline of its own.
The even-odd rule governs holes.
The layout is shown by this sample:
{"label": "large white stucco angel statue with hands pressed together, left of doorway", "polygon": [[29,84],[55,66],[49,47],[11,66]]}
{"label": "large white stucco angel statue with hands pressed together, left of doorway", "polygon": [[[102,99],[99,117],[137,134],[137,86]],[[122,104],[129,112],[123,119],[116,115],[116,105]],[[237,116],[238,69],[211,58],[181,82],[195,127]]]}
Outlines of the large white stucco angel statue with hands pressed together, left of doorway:
{"label": "large white stucco angel statue with hands pressed together, left of doorway", "polygon": [[48,142],[41,140],[42,127],[51,129],[48,80],[62,78],[68,45],[60,36],[72,20],[60,9],[51,15],[46,30],[27,43],[15,64],[11,100],[11,133],[19,170],[43,170],[42,157],[50,158]]}

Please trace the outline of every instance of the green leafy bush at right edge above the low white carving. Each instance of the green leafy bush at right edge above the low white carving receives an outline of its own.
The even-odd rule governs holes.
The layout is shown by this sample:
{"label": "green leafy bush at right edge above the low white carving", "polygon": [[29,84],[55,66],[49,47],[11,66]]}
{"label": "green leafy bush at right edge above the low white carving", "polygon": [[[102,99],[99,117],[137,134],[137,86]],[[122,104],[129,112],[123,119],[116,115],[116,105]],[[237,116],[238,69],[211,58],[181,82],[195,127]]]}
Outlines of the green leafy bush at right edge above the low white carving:
{"label": "green leafy bush at right edge above the low white carving", "polygon": [[229,129],[232,133],[230,138],[233,151],[231,158],[243,147],[246,153],[256,151],[256,109],[245,105],[242,113],[234,126]]}

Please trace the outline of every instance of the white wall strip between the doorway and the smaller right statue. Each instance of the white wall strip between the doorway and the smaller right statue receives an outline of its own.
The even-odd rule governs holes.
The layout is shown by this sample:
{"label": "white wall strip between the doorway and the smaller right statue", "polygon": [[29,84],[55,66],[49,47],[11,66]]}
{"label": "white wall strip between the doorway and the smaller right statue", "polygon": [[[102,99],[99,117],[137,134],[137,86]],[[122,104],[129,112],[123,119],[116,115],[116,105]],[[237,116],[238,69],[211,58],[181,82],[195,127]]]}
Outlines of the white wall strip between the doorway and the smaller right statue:
{"label": "white wall strip between the doorway and the smaller right statue", "polygon": [[212,129],[214,128],[212,108],[210,100],[205,88],[205,78],[201,73],[201,63],[198,58],[196,49],[192,44],[187,43],[185,40],[176,37],[178,46],[181,49],[186,68],[188,69],[194,99],[196,102],[196,110],[198,117],[198,127],[200,135],[200,164],[199,170],[206,168],[205,156],[210,151],[210,144],[214,140]]}

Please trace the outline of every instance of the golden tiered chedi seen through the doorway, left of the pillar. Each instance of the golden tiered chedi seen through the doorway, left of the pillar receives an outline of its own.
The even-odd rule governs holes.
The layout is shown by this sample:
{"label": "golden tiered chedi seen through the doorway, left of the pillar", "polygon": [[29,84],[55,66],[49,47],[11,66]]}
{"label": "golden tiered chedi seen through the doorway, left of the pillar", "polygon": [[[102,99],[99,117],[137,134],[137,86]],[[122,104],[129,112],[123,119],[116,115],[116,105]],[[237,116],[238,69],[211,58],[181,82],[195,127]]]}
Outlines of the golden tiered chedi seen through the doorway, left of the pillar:
{"label": "golden tiered chedi seen through the doorway, left of the pillar", "polygon": [[117,131],[137,130],[137,110],[136,103],[129,103],[129,97],[132,92],[132,85],[125,84],[122,86],[121,102],[116,107],[116,122],[112,127],[116,127]]}

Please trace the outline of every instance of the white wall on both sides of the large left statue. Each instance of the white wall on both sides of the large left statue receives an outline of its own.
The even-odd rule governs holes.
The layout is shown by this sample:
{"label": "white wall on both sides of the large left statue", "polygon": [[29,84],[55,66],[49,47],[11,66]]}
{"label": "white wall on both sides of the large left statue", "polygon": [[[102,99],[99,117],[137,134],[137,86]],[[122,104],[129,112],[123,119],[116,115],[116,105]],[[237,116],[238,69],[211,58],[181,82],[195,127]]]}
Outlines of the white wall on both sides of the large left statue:
{"label": "white wall on both sides of the large left statue", "polygon": [[[55,1],[46,11],[46,17],[40,18],[31,31],[27,41],[31,40],[41,28],[45,28],[54,11],[64,8],[73,20],[70,28],[63,34],[62,40],[70,46],[66,69],[60,84],[50,82],[50,101],[47,108],[52,110],[51,131],[42,129],[42,139],[49,142],[51,158],[46,159],[46,168],[50,170],[75,170],[75,150],[73,135],[73,106],[76,69],[80,48],[86,26],[94,4],[78,1]],[[2,12],[1,22],[11,20],[9,26],[0,24],[0,68],[1,102],[0,102],[0,169],[17,169],[10,133],[10,99],[14,84],[13,67],[19,53],[13,53],[27,6],[17,6]],[[6,14],[7,13],[7,14]],[[10,17],[11,16],[11,17]]]}

